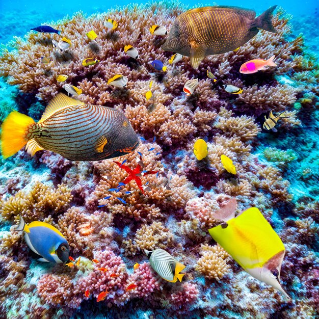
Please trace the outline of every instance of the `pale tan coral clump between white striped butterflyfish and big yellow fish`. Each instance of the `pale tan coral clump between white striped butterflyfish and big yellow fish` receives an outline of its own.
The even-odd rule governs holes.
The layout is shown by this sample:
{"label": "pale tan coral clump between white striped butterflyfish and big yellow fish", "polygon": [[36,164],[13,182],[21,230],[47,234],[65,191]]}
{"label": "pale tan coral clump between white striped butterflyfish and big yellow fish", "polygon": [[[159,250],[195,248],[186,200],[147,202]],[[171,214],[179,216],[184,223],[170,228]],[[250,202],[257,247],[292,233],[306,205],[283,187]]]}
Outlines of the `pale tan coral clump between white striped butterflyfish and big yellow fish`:
{"label": "pale tan coral clump between white striped butterflyfish and big yellow fish", "polygon": [[197,260],[195,270],[205,277],[220,281],[229,273],[230,265],[227,264],[227,261],[230,257],[219,245],[201,245],[200,254],[202,257]]}

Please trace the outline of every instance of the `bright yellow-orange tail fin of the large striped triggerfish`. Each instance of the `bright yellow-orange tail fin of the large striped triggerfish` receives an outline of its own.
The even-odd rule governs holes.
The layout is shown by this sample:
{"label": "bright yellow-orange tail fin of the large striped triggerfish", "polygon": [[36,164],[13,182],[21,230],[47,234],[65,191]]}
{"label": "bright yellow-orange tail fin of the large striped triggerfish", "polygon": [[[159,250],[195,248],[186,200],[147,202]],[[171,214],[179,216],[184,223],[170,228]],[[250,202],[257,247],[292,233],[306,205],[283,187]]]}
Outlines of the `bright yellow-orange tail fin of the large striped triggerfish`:
{"label": "bright yellow-orange tail fin of the large striped triggerfish", "polygon": [[2,155],[8,158],[18,152],[28,140],[25,132],[35,121],[17,111],[11,112],[2,124],[1,146]]}

